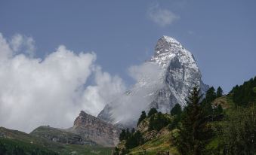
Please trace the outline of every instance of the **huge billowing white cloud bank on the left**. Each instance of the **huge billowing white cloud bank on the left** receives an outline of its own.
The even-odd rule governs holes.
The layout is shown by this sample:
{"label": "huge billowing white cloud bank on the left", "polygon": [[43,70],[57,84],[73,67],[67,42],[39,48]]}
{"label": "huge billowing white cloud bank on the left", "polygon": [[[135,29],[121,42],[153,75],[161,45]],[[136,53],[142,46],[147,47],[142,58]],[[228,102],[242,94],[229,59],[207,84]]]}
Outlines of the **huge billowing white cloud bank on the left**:
{"label": "huge billowing white cloud bank on the left", "polygon": [[[109,97],[125,90],[118,76],[95,64],[95,53],[60,45],[44,59],[32,58],[32,38],[0,33],[0,125],[30,132],[37,126],[70,127],[79,111],[96,115]],[[24,54],[25,53],[25,54]],[[94,85],[85,87],[89,76]]]}

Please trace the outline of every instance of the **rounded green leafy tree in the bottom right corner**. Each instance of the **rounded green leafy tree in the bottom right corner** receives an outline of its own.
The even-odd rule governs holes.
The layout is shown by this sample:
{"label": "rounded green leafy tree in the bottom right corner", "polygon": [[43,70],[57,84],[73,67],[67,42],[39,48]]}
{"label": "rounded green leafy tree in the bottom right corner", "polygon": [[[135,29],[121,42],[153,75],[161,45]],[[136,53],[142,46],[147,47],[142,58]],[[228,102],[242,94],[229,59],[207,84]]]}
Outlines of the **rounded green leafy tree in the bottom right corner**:
{"label": "rounded green leafy tree in the bottom right corner", "polygon": [[231,111],[221,129],[223,154],[256,153],[256,108],[240,107]]}

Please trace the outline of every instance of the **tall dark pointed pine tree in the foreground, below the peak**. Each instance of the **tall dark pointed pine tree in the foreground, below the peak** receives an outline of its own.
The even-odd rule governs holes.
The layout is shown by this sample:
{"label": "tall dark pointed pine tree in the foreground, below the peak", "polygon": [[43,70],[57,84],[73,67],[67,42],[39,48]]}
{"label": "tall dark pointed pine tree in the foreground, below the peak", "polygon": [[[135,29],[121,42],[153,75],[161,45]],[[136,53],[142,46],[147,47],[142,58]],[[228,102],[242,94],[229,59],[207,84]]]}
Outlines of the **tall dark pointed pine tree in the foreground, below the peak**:
{"label": "tall dark pointed pine tree in the foreground, below the peak", "polygon": [[198,87],[193,87],[190,97],[187,101],[187,107],[184,108],[184,115],[181,119],[181,127],[178,135],[174,138],[174,144],[182,155],[203,154],[206,144],[212,137],[212,132],[207,126],[207,119],[200,106]]}

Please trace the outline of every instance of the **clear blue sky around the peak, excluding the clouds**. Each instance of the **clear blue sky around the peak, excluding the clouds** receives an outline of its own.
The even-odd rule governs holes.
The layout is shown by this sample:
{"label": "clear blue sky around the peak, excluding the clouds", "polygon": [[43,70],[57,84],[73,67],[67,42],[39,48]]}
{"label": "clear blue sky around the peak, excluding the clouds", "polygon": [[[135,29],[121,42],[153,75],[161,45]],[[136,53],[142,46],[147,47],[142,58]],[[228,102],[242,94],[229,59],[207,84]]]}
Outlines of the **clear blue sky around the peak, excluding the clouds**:
{"label": "clear blue sky around the peak, excluding the clouds", "polygon": [[[35,57],[60,44],[94,51],[97,64],[132,84],[127,68],[149,59],[169,35],[196,57],[205,84],[229,91],[256,75],[255,1],[12,1],[0,2],[0,32],[35,40]],[[150,11],[168,11],[156,22]],[[161,23],[164,22],[164,23]]]}

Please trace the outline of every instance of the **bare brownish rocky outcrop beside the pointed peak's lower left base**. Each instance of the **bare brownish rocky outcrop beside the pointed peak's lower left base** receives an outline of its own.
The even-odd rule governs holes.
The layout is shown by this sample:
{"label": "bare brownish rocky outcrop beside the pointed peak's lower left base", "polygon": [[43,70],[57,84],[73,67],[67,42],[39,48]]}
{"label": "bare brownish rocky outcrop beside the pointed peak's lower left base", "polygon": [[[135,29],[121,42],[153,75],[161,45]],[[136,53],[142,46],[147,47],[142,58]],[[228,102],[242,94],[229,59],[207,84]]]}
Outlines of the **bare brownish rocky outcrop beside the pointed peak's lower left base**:
{"label": "bare brownish rocky outcrop beside the pointed peak's lower left base", "polygon": [[105,147],[114,147],[119,143],[119,128],[86,114],[85,111],[80,112],[79,116],[76,117],[74,126],[68,131],[81,135],[82,138],[91,139],[91,141]]}

